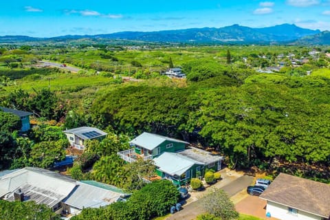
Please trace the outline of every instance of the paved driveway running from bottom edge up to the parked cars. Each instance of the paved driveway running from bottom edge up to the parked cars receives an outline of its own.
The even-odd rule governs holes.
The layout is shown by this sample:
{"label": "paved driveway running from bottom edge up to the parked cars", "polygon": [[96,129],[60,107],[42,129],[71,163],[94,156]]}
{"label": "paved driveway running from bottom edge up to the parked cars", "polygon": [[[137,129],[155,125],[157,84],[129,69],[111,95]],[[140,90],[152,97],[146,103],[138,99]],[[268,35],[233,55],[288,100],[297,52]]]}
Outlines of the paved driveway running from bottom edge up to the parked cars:
{"label": "paved driveway running from bottom edge up to the parked cars", "polygon": [[172,214],[168,217],[168,220],[195,220],[197,215],[205,212],[201,208],[203,203],[203,197],[210,192],[210,190],[222,189],[228,193],[229,197],[232,197],[238,192],[252,184],[254,177],[243,175],[243,173],[236,173],[234,171],[221,170],[221,181],[209,188],[206,188],[203,192],[190,192],[190,198],[187,199],[187,203],[184,205],[184,209]]}

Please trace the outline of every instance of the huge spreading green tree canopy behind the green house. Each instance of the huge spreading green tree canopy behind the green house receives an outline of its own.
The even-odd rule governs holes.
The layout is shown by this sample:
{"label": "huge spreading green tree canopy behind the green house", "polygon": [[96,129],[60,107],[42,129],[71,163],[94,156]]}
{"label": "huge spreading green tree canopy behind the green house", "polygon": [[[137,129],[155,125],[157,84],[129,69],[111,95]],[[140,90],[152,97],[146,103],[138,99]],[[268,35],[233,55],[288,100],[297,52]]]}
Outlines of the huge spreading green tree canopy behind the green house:
{"label": "huge spreading green tree canopy behind the green house", "polygon": [[149,131],[212,146],[232,167],[267,168],[274,158],[329,163],[329,78],[200,62],[185,67],[188,87],[111,89],[91,107],[95,121],[132,136]]}

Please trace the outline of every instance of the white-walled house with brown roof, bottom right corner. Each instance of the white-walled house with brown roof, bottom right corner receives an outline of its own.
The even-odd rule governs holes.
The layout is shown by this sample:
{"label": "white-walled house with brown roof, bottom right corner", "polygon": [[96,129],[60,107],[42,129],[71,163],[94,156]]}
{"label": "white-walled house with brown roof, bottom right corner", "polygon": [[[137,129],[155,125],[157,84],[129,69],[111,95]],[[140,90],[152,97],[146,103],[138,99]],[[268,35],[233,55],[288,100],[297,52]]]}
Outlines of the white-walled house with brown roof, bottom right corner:
{"label": "white-walled house with brown roof, bottom right corner", "polygon": [[330,219],[330,186],[281,173],[261,194],[266,213],[283,220]]}

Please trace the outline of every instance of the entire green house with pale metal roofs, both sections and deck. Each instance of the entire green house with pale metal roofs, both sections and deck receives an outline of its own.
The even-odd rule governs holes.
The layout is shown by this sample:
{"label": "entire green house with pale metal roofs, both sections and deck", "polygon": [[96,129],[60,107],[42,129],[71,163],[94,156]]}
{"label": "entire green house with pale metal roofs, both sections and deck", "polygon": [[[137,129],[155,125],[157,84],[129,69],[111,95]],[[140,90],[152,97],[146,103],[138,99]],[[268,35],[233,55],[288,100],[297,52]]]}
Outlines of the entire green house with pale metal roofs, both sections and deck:
{"label": "entire green house with pale metal roofs, both sections and deck", "polygon": [[206,168],[221,169],[223,157],[189,146],[188,142],[154,133],[142,133],[130,142],[133,148],[118,152],[126,162],[137,158],[153,159],[159,177],[170,179],[174,184],[183,185],[197,172],[203,176]]}

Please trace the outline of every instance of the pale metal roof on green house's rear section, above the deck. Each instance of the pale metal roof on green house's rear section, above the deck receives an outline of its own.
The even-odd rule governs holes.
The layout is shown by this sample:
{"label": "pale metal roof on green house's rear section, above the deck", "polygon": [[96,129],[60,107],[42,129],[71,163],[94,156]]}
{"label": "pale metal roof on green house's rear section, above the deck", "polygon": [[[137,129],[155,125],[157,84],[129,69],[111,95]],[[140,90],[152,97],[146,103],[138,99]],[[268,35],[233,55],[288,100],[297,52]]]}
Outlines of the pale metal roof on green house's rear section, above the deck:
{"label": "pale metal roof on green house's rear section, above the deck", "polygon": [[135,144],[137,146],[142,146],[143,148],[146,148],[149,151],[152,151],[154,148],[159,146],[159,144],[162,144],[162,142],[164,142],[166,140],[168,140],[170,142],[179,142],[179,143],[189,144],[188,142],[184,142],[182,140],[177,140],[174,138],[165,137],[162,135],[157,135],[155,133],[147,133],[147,132],[144,132],[141,135],[135,137],[129,143]]}

